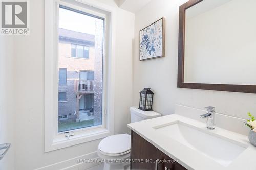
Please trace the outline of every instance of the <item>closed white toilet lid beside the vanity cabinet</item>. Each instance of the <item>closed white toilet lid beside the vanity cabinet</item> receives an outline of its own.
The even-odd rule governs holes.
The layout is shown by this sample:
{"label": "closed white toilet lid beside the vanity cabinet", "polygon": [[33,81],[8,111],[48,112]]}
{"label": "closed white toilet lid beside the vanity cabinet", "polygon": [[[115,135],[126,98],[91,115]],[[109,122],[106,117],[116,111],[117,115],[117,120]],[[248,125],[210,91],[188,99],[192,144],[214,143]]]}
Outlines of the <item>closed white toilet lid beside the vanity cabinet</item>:
{"label": "closed white toilet lid beside the vanity cabinet", "polygon": [[99,143],[99,150],[106,154],[120,154],[131,148],[131,137],[128,134],[112,135]]}

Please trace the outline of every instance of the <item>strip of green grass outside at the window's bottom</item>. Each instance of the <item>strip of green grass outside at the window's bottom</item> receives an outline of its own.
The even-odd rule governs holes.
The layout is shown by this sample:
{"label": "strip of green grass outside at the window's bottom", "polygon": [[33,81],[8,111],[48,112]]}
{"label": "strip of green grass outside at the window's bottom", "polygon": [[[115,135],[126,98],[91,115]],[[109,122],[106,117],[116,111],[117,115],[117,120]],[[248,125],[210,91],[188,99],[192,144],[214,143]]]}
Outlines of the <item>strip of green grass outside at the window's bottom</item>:
{"label": "strip of green grass outside at the window's bottom", "polygon": [[82,122],[74,122],[74,120],[59,121],[59,132],[79,129],[79,128],[86,128],[89,126],[93,126],[93,124],[94,124],[93,119],[84,120]]}

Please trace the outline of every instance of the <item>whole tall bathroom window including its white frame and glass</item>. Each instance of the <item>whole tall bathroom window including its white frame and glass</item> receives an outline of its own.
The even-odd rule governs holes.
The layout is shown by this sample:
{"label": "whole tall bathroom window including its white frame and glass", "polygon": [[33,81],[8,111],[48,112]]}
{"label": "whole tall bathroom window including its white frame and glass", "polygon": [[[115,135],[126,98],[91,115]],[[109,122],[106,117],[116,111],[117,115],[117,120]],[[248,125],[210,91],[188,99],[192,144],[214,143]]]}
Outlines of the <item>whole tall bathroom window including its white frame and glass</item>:
{"label": "whole tall bathroom window including its white frame and glass", "polygon": [[45,0],[45,152],[114,133],[115,10],[105,9]]}

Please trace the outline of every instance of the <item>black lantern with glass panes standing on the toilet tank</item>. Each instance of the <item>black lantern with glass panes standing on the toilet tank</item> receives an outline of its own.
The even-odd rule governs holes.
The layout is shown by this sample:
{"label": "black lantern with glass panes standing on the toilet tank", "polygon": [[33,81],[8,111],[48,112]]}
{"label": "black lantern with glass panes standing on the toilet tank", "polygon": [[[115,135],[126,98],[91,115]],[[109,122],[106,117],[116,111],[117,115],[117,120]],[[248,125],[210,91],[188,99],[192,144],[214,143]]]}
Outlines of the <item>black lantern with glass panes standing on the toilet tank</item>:
{"label": "black lantern with glass panes standing on the toilet tank", "polygon": [[140,110],[152,110],[153,95],[154,93],[150,90],[150,88],[144,88],[144,90],[140,92]]}

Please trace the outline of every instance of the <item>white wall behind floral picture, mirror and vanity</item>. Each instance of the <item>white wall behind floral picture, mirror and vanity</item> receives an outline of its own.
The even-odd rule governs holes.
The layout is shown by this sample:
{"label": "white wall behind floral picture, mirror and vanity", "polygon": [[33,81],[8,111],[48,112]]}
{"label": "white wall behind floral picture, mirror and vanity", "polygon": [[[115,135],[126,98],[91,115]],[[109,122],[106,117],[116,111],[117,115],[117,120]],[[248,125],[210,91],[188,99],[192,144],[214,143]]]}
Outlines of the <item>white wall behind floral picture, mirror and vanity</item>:
{"label": "white wall behind floral picture, mirror and vanity", "polygon": [[[219,113],[240,118],[247,118],[248,111],[256,115],[256,94],[177,88],[178,14],[185,2],[152,0],[135,14],[133,105],[139,104],[139,91],[150,87],[155,92],[153,109],[163,115],[174,113],[176,103],[201,109],[212,105]],[[139,61],[139,30],[161,17],[166,19],[165,57]]]}

